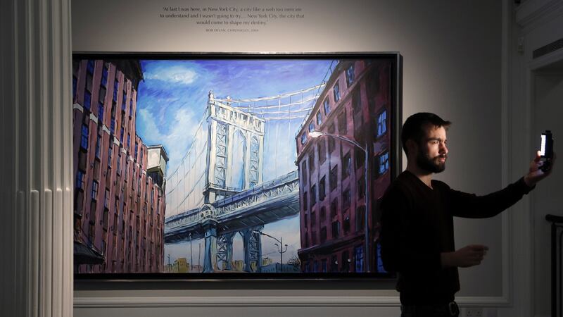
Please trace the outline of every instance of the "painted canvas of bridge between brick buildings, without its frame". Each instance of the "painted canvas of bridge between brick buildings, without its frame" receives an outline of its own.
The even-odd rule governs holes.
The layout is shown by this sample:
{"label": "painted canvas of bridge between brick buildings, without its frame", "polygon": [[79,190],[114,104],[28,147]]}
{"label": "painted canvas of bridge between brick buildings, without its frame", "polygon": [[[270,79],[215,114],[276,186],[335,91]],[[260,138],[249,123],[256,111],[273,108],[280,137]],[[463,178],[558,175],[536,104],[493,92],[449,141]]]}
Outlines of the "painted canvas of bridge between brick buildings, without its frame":
{"label": "painted canvas of bridge between brick buildings, without its frame", "polygon": [[385,273],[396,55],[76,57],[75,273]]}

